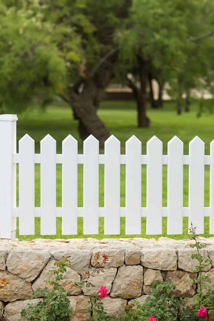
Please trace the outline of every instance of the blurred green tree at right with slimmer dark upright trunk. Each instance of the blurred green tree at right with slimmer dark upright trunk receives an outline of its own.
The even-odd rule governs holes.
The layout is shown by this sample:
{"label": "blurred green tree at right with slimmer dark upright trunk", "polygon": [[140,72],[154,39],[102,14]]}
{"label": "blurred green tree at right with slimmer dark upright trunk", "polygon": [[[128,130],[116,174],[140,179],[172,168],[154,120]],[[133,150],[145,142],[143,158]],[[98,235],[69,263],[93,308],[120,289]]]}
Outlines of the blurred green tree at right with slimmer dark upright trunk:
{"label": "blurred green tree at right with slimmer dark upright trunk", "polygon": [[[207,73],[209,67],[205,72],[204,65],[210,66],[206,45],[198,43],[213,35],[213,9],[213,0],[133,0],[117,41],[126,74],[133,75],[128,83],[136,99],[139,127],[150,125],[146,114],[148,80],[158,80],[160,89],[164,82],[171,83],[178,114],[184,87],[189,104],[190,88]],[[150,100],[154,103],[152,91]]]}

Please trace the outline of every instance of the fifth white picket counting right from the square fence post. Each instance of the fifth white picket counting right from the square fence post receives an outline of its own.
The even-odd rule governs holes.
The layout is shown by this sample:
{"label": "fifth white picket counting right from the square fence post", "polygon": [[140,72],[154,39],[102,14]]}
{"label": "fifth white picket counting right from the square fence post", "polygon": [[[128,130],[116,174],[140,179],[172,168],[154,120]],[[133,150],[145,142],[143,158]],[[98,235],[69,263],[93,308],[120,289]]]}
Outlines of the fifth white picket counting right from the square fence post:
{"label": "fifth white picket counting right from the square fence post", "polygon": [[104,234],[120,234],[120,142],[111,135],[105,142]]}

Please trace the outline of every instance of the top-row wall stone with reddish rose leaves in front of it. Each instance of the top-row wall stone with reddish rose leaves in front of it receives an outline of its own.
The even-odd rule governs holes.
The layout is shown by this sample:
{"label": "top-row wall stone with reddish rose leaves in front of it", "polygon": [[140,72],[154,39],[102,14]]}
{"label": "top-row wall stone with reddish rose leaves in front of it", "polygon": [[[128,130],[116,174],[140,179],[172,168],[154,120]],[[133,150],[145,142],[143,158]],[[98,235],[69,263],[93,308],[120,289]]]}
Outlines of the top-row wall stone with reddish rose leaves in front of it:
{"label": "top-row wall stone with reddish rose leaves in front of it", "polygon": [[[108,256],[108,261],[106,261],[105,264],[101,264],[104,254]],[[116,248],[95,249],[91,257],[91,265],[95,266],[97,261],[101,266],[118,267],[124,264],[124,253],[122,250]]]}

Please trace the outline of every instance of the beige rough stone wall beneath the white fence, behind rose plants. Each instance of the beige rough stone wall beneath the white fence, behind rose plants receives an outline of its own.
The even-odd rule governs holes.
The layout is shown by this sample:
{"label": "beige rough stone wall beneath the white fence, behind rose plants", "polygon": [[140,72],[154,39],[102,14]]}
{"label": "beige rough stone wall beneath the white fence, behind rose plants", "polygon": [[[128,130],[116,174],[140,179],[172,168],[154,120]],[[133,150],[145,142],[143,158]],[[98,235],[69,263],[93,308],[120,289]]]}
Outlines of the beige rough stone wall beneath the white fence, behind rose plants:
{"label": "beige rough stone wall beneath the white fence, behind rose plants", "polygon": [[[206,263],[204,271],[214,282],[214,238],[203,239],[207,247],[202,255],[213,260]],[[71,306],[74,321],[87,320],[83,310],[88,307],[89,295],[105,285],[108,296],[103,300],[109,316],[118,316],[126,304],[139,298],[145,302],[151,294],[151,282],[156,280],[174,281],[177,297],[191,298],[196,278],[192,268],[197,265],[188,256],[195,251],[186,247],[189,240],[155,239],[68,239],[33,241],[0,240],[0,306],[8,321],[17,321],[23,307],[27,307],[29,297],[36,289],[46,286],[51,279],[48,271],[56,260],[62,256],[71,256],[71,266],[64,274],[62,281],[65,288],[68,282],[79,281],[88,269],[93,269],[96,260],[102,254],[108,255],[109,261],[104,266],[104,273],[93,277],[95,287],[73,288]],[[68,284],[67,284],[68,283]],[[50,285],[48,285],[50,286]],[[39,299],[32,302],[37,303]],[[190,299],[191,300],[191,299]]]}

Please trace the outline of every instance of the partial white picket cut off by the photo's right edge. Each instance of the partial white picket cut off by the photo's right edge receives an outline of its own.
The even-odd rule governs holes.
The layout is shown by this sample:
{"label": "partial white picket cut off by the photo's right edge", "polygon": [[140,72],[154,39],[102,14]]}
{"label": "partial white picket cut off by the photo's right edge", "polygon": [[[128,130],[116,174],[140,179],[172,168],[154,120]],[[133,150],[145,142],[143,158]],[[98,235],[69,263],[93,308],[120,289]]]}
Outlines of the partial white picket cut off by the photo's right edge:
{"label": "partial white picket cut off by the photo's right edge", "polygon": [[210,234],[214,234],[214,140],[210,143]]}

